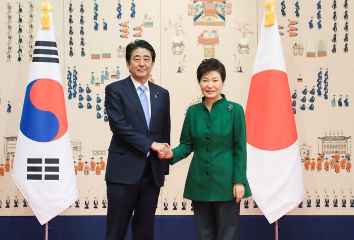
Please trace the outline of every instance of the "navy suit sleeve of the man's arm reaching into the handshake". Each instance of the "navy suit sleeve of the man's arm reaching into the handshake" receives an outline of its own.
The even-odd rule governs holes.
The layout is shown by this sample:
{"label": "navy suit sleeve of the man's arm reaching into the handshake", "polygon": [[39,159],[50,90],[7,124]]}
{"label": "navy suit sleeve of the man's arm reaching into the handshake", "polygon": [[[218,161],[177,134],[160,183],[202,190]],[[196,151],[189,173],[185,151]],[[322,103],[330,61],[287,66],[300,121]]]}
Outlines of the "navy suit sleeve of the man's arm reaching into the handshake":
{"label": "navy suit sleeve of the man's arm reaching into the handshake", "polygon": [[150,149],[153,140],[146,134],[141,133],[126,121],[122,96],[118,91],[113,91],[112,86],[106,87],[105,106],[108,113],[109,126],[113,135],[118,135],[125,143],[137,148],[143,153],[147,153]]}

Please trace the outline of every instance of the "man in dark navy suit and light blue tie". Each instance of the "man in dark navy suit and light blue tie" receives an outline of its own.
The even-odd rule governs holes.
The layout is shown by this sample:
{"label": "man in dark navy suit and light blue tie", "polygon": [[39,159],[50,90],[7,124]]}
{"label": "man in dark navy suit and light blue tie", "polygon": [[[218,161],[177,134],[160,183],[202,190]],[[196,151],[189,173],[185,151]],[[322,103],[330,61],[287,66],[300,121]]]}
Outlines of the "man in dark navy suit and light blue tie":
{"label": "man in dark navy suit and light blue tie", "polygon": [[[148,78],[155,51],[144,40],[126,46],[127,78],[106,87],[108,148],[106,240],[123,240],[132,213],[134,240],[154,239],[154,218],[168,164],[156,151],[170,141],[169,94]],[[142,86],[143,85],[143,86]]]}

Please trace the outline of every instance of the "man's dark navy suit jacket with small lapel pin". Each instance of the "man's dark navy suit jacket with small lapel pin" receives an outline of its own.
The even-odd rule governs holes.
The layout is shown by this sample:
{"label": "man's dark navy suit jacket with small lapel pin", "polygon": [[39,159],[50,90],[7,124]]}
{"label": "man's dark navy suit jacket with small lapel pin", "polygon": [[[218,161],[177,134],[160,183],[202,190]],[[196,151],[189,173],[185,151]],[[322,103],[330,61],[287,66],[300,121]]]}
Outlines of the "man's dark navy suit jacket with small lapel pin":
{"label": "man's dark navy suit jacket with small lapel pin", "polygon": [[[148,129],[143,107],[130,76],[106,87],[106,110],[112,139],[108,148],[105,180],[137,183],[144,171],[151,144],[170,142],[169,93],[149,82],[151,117]],[[163,186],[168,164],[150,150],[151,168],[157,186]]]}

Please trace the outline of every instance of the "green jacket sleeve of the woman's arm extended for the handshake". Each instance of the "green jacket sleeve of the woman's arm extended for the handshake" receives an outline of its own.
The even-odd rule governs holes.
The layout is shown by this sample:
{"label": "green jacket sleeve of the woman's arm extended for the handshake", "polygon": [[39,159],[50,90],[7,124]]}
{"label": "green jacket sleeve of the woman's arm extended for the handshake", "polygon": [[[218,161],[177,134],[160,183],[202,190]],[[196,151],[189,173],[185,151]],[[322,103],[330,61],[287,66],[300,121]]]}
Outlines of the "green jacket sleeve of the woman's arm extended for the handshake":
{"label": "green jacket sleeve of the woman's arm extended for the handshake", "polygon": [[191,134],[191,111],[188,108],[185,121],[183,123],[180,145],[172,149],[173,157],[168,162],[173,165],[186,158],[193,151],[192,134]]}

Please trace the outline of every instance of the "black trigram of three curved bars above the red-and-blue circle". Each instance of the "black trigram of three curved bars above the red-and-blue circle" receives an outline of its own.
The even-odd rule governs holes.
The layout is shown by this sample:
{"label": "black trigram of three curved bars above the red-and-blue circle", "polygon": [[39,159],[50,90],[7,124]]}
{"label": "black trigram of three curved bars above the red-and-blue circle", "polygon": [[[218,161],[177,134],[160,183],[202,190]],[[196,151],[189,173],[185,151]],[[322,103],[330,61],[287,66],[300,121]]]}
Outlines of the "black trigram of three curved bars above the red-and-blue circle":
{"label": "black trigram of three curved bars above the red-and-blue circle", "polygon": [[57,43],[49,41],[36,41],[34,44],[32,62],[59,63]]}

